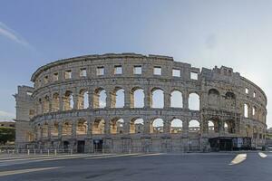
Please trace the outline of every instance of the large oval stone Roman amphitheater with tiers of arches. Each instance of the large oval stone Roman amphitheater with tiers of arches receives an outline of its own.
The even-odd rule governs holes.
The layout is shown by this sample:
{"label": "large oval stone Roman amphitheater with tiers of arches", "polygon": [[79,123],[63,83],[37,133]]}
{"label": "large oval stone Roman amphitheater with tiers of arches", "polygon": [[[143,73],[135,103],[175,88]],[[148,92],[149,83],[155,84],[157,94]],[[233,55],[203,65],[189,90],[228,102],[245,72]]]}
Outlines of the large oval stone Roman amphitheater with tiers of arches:
{"label": "large oval stone Roman amphitheater with tiers of arches", "polygon": [[267,97],[231,68],[108,53],[50,62],[19,86],[17,148],[186,152],[265,145]]}

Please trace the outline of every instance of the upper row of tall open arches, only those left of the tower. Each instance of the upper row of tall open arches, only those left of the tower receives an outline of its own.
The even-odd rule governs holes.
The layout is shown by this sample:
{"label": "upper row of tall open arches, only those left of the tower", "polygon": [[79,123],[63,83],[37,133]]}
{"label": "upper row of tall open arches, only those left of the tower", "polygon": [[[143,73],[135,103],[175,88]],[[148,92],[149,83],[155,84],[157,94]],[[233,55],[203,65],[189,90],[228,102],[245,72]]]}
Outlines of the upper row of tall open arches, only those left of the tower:
{"label": "upper row of tall open arches, only those left of the tower", "polygon": [[[148,95],[149,96],[149,95]],[[83,110],[88,108],[103,109],[124,108],[126,101],[129,101],[130,108],[143,108],[147,102],[154,109],[163,109],[165,107],[165,96],[168,96],[160,88],[151,90],[151,97],[145,97],[144,90],[141,88],[133,88],[128,95],[120,87],[115,88],[111,93],[106,92],[103,88],[95,89],[89,92],[82,89],[78,94],[74,94],[72,90],[66,90],[61,96],[59,92],[53,93],[52,98],[46,95],[43,99],[38,100],[37,113],[48,113],[58,110]],[[199,95],[197,93],[189,93],[188,98],[184,97],[180,90],[172,90],[170,92],[170,107],[183,108],[185,102],[188,102],[189,110],[199,110]],[[187,107],[187,105],[185,105]]]}

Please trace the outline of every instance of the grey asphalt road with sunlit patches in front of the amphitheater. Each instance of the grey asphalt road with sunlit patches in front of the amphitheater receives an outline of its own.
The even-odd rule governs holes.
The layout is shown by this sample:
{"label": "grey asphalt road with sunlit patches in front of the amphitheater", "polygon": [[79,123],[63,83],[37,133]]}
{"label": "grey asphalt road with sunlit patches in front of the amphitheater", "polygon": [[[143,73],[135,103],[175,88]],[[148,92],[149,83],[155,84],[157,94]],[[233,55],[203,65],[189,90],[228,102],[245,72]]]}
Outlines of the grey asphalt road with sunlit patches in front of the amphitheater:
{"label": "grey asphalt road with sunlit patches in front of the amphitheater", "polygon": [[272,153],[0,156],[2,180],[272,181]]}

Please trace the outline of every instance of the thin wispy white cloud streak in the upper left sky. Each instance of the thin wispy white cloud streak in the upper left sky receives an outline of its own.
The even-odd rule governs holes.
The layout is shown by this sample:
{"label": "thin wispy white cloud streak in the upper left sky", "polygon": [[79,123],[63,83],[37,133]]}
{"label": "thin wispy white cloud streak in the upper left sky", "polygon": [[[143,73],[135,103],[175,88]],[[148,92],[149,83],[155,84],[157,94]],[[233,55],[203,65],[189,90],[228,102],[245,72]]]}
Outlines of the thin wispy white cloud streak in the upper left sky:
{"label": "thin wispy white cloud streak in the upper left sky", "polygon": [[30,44],[27,43],[20,34],[16,33],[13,29],[9,28],[2,22],[0,22],[0,35],[5,36],[6,38],[14,41],[15,43],[20,43],[25,47],[31,47]]}

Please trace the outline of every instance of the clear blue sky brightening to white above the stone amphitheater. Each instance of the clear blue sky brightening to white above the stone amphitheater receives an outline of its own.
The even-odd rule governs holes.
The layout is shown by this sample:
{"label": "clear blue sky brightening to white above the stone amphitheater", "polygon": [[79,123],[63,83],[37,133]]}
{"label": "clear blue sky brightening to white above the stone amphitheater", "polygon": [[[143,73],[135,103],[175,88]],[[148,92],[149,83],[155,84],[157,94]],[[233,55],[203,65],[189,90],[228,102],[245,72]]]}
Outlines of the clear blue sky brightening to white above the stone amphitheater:
{"label": "clear blue sky brightening to white above the stone amphitheater", "polygon": [[15,119],[13,94],[63,58],[107,52],[172,56],[228,66],[267,94],[272,127],[272,1],[0,0],[0,119]]}

